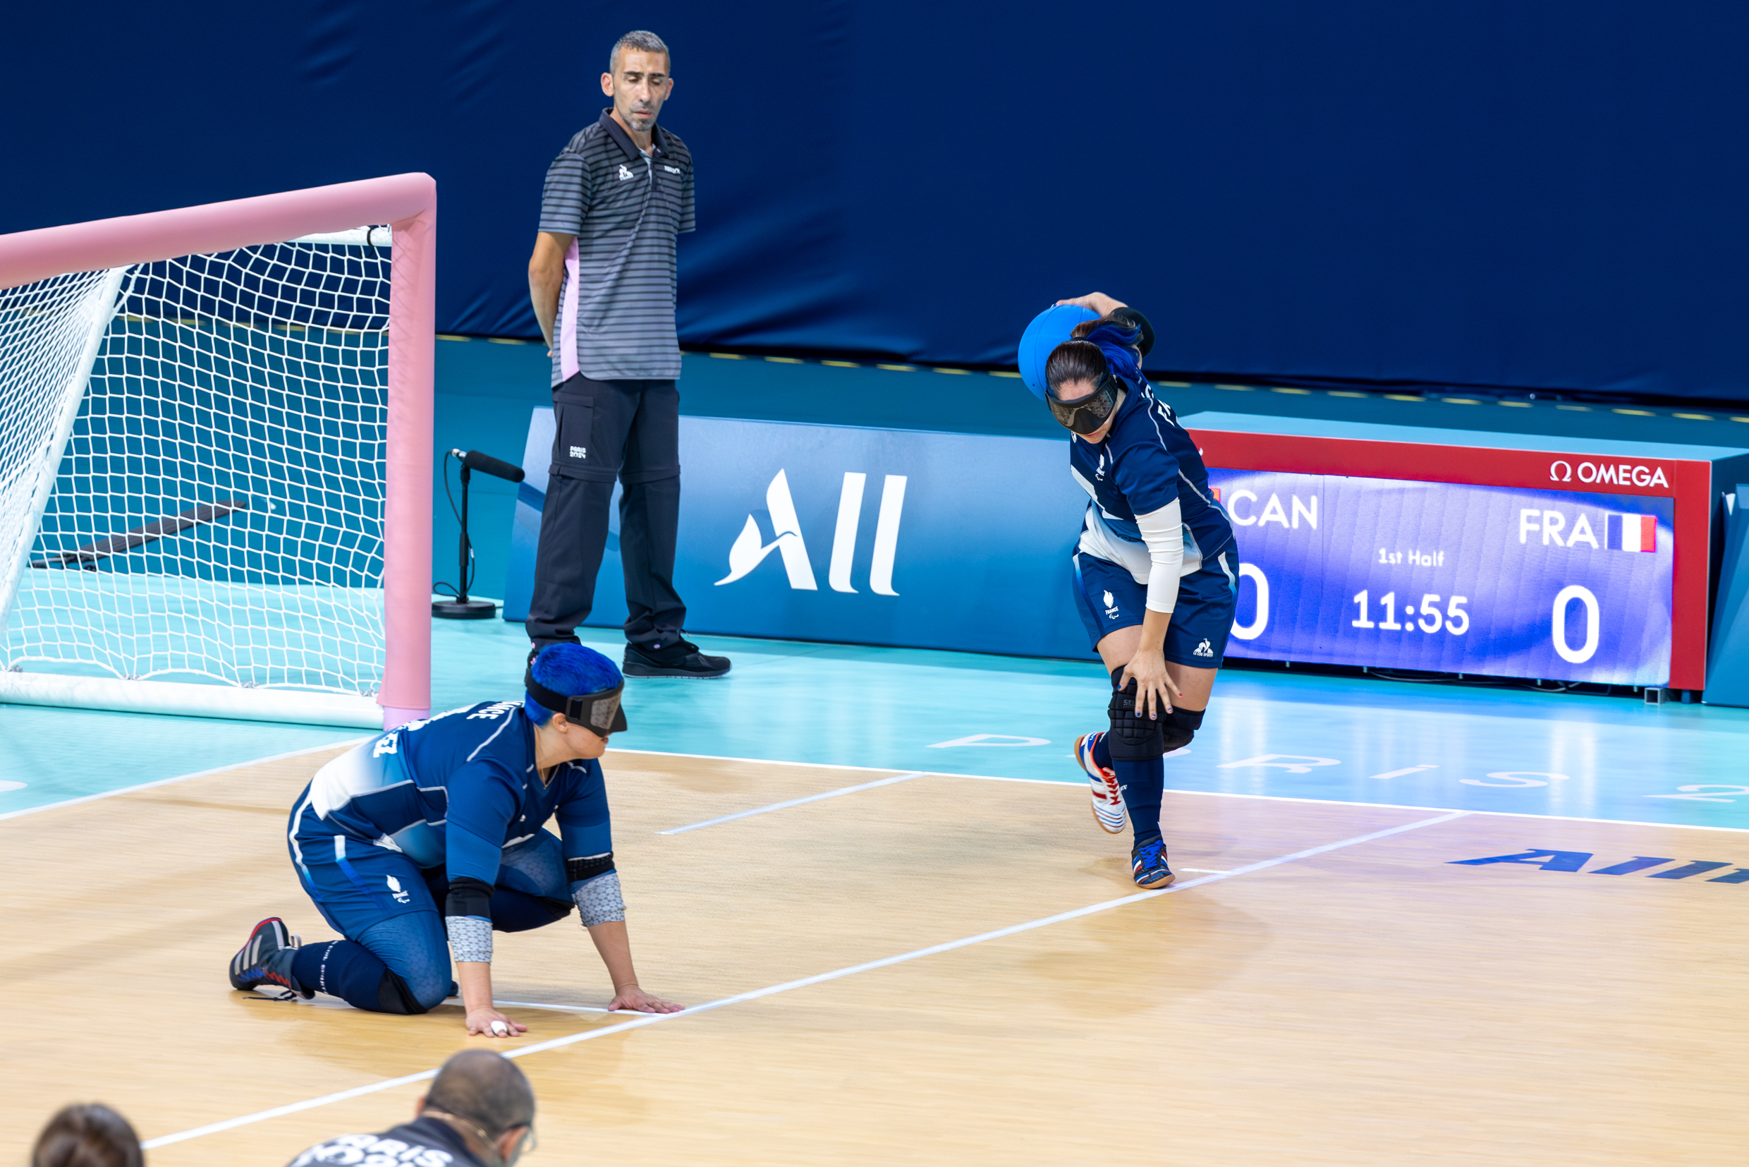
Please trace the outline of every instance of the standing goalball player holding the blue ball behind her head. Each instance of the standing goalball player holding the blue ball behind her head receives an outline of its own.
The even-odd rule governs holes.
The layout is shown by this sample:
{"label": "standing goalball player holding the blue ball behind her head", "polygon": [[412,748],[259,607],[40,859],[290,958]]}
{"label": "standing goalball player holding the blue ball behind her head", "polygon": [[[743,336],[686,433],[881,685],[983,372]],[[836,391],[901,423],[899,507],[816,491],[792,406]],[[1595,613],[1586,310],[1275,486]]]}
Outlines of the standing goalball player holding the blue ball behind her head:
{"label": "standing goalball player holding the blue ball behind her head", "polygon": [[1233,527],[1196,443],[1142,376],[1153,343],[1142,313],[1100,292],[1058,301],[1020,343],[1021,376],[1070,430],[1069,472],[1091,497],[1074,591],[1111,672],[1111,728],[1077,738],[1076,759],[1098,824],[1133,824],[1139,887],[1174,880],[1163,758],[1202,726],[1238,595]]}

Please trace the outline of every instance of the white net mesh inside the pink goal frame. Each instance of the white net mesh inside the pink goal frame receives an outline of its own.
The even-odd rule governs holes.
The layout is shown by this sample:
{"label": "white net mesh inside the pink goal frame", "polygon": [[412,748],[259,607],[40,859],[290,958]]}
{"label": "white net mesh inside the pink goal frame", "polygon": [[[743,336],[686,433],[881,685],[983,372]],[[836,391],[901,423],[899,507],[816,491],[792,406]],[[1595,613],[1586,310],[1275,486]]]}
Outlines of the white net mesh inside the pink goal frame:
{"label": "white net mesh inside the pink goal frame", "polygon": [[[126,273],[16,572],[9,668],[378,689],[388,266],[387,247],[297,241]],[[91,276],[3,296],[72,303],[63,280]],[[0,366],[7,432],[52,409],[30,387],[73,346],[38,332],[28,376]]]}

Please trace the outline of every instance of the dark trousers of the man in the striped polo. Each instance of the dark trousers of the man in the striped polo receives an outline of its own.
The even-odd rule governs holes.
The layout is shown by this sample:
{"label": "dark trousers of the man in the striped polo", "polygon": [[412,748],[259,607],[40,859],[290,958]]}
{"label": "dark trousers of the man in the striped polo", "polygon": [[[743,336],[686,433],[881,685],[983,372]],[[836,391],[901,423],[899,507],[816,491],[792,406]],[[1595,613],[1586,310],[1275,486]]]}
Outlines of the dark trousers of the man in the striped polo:
{"label": "dark trousers of the man in the striped polo", "polygon": [[686,604],[673,590],[680,523],[680,390],[673,381],[591,381],[553,388],[553,469],[540,511],[528,639],[575,640],[595,605],[607,549],[607,507],[619,499],[626,572],[626,640],[666,647],[680,639]]}

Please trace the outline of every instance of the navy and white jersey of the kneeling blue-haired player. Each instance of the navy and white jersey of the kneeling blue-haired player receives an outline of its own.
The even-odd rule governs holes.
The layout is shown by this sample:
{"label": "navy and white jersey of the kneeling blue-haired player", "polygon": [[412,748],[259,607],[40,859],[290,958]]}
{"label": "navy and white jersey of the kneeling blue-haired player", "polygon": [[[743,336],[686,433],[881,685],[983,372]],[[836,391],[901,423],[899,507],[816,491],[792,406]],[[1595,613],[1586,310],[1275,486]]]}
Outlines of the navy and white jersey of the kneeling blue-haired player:
{"label": "navy and white jersey of the kneeling blue-haired player", "polygon": [[600,763],[568,761],[542,782],[521,702],[481,702],[409,721],[322,766],[292,812],[292,843],[308,847],[320,829],[490,887],[502,850],[547,819],[558,819],[567,859],[612,850],[605,801]]}

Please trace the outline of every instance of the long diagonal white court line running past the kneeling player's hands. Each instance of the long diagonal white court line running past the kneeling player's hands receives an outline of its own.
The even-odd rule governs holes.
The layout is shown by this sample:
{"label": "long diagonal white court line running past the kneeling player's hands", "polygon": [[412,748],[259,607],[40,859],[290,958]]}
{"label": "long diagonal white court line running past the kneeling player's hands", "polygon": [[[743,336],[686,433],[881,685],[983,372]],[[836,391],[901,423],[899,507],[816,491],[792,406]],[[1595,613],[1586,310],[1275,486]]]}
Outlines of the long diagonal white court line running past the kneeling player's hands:
{"label": "long diagonal white court line running past the kneeling player's hands", "polygon": [[[609,1034],[624,1032],[628,1029],[638,1029],[642,1025],[658,1025],[661,1022],[672,1022],[679,1017],[696,1017],[700,1013],[708,1013],[710,1010],[721,1010],[731,1004],[742,1004],[743,1001],[757,1001],[759,997],[771,997],[780,992],[789,992],[792,989],[806,989],[808,985],[820,985],[831,980],[841,980],[845,976],[855,976],[857,973],[868,973],[873,969],[883,969],[892,964],[904,964],[906,961],[916,961],[922,957],[932,957],[941,952],[953,952],[955,948],[965,948],[969,945],[981,945],[986,940],[1000,940],[1004,936],[1014,936],[1018,933],[1030,933],[1037,927],[1048,927],[1051,924],[1062,924],[1063,920],[1077,920],[1084,915],[1093,915],[1095,912],[1109,912],[1112,908],[1121,908],[1125,905],[1140,903],[1142,899],[1156,899],[1160,896],[1172,896],[1175,892],[1189,891],[1191,887],[1202,887],[1203,884],[1217,884],[1219,880],[1230,880],[1237,875],[1249,875],[1252,871],[1263,871],[1266,868],[1275,868],[1284,863],[1294,863],[1298,859],[1310,859],[1312,856],[1324,856],[1333,850],[1341,850],[1343,847],[1355,847],[1359,843],[1371,843],[1373,840],[1389,838],[1390,835],[1403,835],[1404,831],[1418,831],[1422,828],[1438,826],[1441,822],[1450,822],[1452,819],[1462,819],[1473,812],[1469,810],[1452,810],[1432,819],[1420,819],[1418,822],[1404,822],[1403,826],[1385,828],[1383,831],[1371,831],[1368,835],[1355,835],[1354,838],[1345,838],[1336,843],[1322,843],[1320,847],[1307,847],[1305,850],[1296,850],[1287,856],[1277,856],[1273,859],[1261,859],[1258,863],[1249,863],[1242,868],[1233,868],[1223,875],[1205,875],[1200,880],[1189,880],[1186,884],[1174,884],[1172,887],[1161,887],[1147,892],[1135,892],[1133,896],[1121,896],[1118,899],[1107,899],[1104,903],[1088,905],[1086,908],[1074,908],[1070,912],[1058,912],[1056,915],[1048,915],[1039,920],[1027,920],[1025,924],[1009,924],[1007,927],[999,927],[990,933],[978,933],[976,936],[965,936],[962,940],[950,940],[941,945],[930,945],[927,948],[913,948],[911,952],[901,952],[895,957],[881,957],[880,961],[868,961],[864,964],[852,964],[850,968],[834,969],[831,973],[817,973],[813,976],[801,976],[798,980],[787,980],[782,985],[768,985],[764,989],[754,989],[752,992],[735,994],[733,997],[719,997],[717,1001],[707,1001],[705,1004],[694,1004],[680,1013],[645,1013],[630,1022],[619,1022],[616,1025],[602,1025],[600,1029],[588,1029],[581,1034],[567,1034],[565,1038],[553,1038],[551,1041],[537,1041],[535,1045],[519,1046],[516,1050],[505,1050],[504,1057],[528,1057],[530,1053],[542,1053],[546,1050],[558,1050],[561,1046],[577,1045],[579,1041],[593,1041],[596,1038],[605,1038]],[[357,1099],[366,1094],[376,1094],[380,1090],[394,1090],[395,1087],[404,1087],[415,1081],[427,1081],[436,1078],[436,1069],[425,1069],[416,1074],[406,1074],[402,1078],[388,1078],[385,1081],[373,1081],[366,1087],[353,1087],[352,1090],[341,1090],[338,1094],[324,1094],[318,1099],[304,1099],[303,1102],[289,1102],[285,1106],[275,1106],[268,1111],[255,1111],[254,1115],[243,1115],[240,1118],[226,1118],[224,1122],[208,1123],[205,1127],[194,1127],[192,1130],[178,1130],[177,1134],[159,1136],[156,1139],[147,1139],[140,1146],[145,1150],[156,1150],[159,1146],[168,1146],[171,1143],[184,1143],[185,1139],[199,1139],[201,1136],[219,1134],[220,1130],[234,1130],[236,1127],[247,1127],[250,1123],[266,1122],[269,1118],[280,1118],[283,1115],[296,1115],[299,1111],[317,1109],[318,1106],[329,1106],[332,1102],[345,1102],[346,1099]]]}

